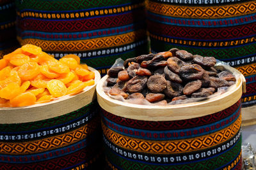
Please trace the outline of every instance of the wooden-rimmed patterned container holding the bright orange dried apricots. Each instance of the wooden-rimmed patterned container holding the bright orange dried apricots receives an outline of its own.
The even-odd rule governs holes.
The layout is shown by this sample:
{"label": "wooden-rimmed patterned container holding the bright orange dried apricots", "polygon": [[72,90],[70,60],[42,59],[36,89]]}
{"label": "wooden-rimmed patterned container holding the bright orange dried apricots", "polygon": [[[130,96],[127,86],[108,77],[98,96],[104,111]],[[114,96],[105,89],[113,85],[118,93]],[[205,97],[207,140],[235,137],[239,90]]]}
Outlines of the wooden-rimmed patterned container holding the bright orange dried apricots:
{"label": "wooden-rimmed patterned container holding the bright orange dried apricots", "polygon": [[[75,96],[18,108],[0,109],[1,169],[83,169],[101,155],[95,85]],[[99,165],[99,164],[97,164]]]}

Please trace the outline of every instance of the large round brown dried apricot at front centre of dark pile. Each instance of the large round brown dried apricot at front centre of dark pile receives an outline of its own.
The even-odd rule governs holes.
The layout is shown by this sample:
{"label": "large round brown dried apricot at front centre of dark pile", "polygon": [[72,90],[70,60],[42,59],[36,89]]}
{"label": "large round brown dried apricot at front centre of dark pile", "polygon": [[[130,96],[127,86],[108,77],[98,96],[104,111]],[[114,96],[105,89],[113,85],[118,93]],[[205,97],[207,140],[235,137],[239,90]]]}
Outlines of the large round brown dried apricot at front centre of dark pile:
{"label": "large round brown dried apricot at front centre of dark pile", "polygon": [[153,75],[148,78],[147,87],[151,92],[161,93],[166,89],[167,81],[161,75]]}

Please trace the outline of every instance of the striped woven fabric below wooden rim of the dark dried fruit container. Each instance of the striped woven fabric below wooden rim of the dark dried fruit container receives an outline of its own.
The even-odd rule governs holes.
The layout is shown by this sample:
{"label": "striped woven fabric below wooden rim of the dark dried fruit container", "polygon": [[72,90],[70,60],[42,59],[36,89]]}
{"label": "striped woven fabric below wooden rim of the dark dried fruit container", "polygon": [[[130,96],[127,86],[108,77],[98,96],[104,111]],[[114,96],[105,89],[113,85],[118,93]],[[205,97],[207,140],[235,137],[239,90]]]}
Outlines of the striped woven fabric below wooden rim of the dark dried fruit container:
{"label": "striped woven fabric below wooden rim of the dark dried fruit container", "polygon": [[102,129],[109,169],[241,168],[241,100],[204,117],[162,122],[102,110]]}

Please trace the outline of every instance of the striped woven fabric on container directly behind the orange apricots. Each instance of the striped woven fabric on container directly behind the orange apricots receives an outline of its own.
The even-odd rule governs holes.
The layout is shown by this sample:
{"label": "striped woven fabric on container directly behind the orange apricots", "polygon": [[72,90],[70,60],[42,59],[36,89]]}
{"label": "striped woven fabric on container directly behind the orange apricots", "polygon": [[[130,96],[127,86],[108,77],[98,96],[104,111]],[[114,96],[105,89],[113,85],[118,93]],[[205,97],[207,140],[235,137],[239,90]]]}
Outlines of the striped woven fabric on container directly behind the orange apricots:
{"label": "striped woven fabric on container directly behind the orange apricots", "polygon": [[68,53],[106,74],[116,59],[148,53],[145,0],[16,0],[17,34],[60,59]]}

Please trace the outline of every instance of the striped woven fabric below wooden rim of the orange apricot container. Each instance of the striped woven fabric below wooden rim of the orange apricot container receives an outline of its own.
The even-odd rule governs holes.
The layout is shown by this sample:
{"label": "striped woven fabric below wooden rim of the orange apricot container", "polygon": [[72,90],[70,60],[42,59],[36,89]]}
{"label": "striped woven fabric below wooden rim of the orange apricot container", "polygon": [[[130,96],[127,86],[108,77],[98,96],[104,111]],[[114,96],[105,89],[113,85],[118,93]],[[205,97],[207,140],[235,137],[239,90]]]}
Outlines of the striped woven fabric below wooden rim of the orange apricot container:
{"label": "striped woven fabric below wooden rim of the orange apricot container", "polygon": [[90,169],[102,159],[96,102],[37,122],[0,124],[1,169]]}

